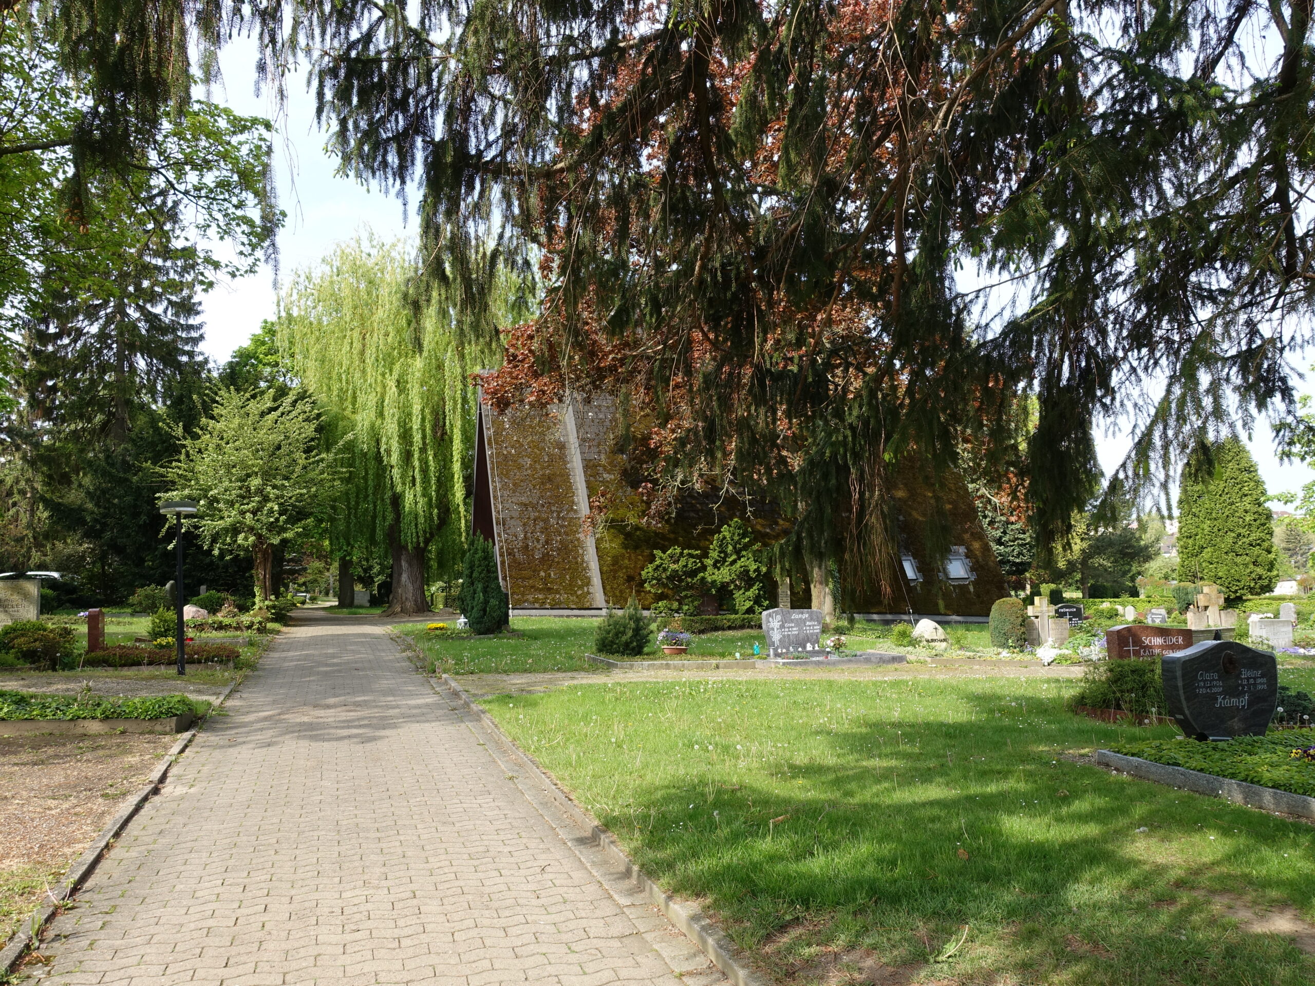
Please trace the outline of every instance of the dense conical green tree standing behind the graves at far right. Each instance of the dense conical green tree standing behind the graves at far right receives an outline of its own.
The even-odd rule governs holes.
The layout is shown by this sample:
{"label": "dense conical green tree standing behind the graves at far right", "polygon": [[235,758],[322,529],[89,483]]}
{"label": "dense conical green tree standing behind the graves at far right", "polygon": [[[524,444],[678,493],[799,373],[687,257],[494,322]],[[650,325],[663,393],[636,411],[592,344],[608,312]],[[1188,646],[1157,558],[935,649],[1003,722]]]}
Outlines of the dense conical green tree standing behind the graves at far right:
{"label": "dense conical green tree standing behind the graves at far right", "polygon": [[1214,582],[1230,598],[1270,592],[1278,559],[1268,500],[1240,439],[1198,446],[1178,493],[1178,581]]}

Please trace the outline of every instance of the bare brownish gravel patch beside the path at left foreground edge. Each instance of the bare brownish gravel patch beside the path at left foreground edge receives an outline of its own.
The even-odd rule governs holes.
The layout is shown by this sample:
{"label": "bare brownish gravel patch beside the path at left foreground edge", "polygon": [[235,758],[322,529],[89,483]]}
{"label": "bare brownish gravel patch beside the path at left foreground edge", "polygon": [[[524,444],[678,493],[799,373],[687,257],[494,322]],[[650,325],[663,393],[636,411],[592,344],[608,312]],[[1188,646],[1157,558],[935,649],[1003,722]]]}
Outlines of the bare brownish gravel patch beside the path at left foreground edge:
{"label": "bare brownish gravel patch beside the path at left foreground edge", "polygon": [[0,736],[0,941],[146,784],[176,736]]}

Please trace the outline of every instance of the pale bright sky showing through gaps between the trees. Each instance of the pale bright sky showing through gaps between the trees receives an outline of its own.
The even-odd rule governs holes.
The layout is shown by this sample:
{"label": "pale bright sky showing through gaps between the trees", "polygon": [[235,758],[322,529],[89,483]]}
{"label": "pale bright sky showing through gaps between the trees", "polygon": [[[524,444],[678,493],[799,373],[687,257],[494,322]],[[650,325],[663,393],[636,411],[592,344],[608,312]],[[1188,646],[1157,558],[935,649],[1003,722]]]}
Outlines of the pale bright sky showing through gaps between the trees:
{"label": "pale bright sky showing through gaps between the trees", "polygon": [[[227,47],[221,58],[225,85],[213,99],[239,113],[272,117],[270,101],[252,92],[254,63],[255,47],[250,41]],[[279,195],[288,212],[288,225],[280,237],[285,273],[316,262],[334,243],[351,239],[358,231],[371,229],[381,238],[392,238],[414,229],[414,197],[406,214],[401,200],[334,174],[337,162],[323,150],[325,135],[316,129],[314,99],[305,91],[304,78],[289,84],[283,117],[276,122]],[[272,272],[262,270],[251,277],[221,284],[206,296],[204,308],[203,348],[216,360],[225,360],[260,327],[260,319],[274,314]],[[1299,360],[1302,365],[1308,362]],[[1302,389],[1310,392],[1310,383]],[[1098,442],[1102,465],[1106,471],[1116,467],[1128,448],[1126,434],[1120,429],[1111,435],[1098,433]],[[1249,444],[1272,493],[1295,490],[1315,480],[1315,471],[1278,461],[1268,422],[1257,423]]]}

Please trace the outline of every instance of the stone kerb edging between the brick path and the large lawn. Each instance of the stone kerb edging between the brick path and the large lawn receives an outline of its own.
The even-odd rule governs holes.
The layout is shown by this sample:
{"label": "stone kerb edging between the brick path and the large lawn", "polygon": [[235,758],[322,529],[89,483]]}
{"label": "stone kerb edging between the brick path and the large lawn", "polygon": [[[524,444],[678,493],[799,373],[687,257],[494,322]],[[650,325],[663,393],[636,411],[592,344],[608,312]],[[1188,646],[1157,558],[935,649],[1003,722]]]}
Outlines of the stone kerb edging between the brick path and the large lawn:
{"label": "stone kerb edging between the brick path and the large lawn", "polygon": [[[675,661],[654,663],[673,664]],[[554,801],[567,814],[567,816],[589,833],[589,840],[602,848],[608,856],[618,864],[626,877],[634,881],[640,891],[643,891],[644,897],[647,897],[658,907],[658,910],[667,916],[667,920],[675,924],[681,932],[685,933],[686,937],[689,937],[690,941],[698,945],[704,954],[713,961],[713,965],[725,973],[727,979],[735,983],[735,986],[771,986],[765,977],[755,973],[739,961],[739,949],[704,915],[702,910],[697,904],[677,901],[658,886],[658,883],[655,883],[652,878],[638,865],[635,865],[635,861],[630,858],[629,853],[626,853],[626,851],[621,847],[615,836],[600,824],[593,815],[576,803],[576,801],[565,790],[563,790],[556,780],[554,780],[552,774],[539,766],[539,763],[533,756],[521,749],[510,736],[502,732],[502,727],[500,727],[493,716],[484,711],[484,709],[466,693],[466,689],[458,685],[450,674],[443,674],[442,682],[452,693],[452,695],[455,695],[458,701],[460,701],[462,705],[464,705],[469,713],[479,719],[480,724],[489,731],[504,751],[517,760],[522,769],[533,773],[543,784],[544,789],[552,795]],[[547,822],[556,828],[552,819],[547,819]],[[567,845],[575,851],[575,844],[569,837],[567,837],[567,833],[563,832],[562,835]],[[585,866],[588,866],[588,862],[584,862]]]}

